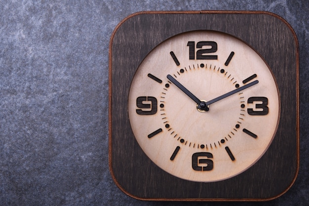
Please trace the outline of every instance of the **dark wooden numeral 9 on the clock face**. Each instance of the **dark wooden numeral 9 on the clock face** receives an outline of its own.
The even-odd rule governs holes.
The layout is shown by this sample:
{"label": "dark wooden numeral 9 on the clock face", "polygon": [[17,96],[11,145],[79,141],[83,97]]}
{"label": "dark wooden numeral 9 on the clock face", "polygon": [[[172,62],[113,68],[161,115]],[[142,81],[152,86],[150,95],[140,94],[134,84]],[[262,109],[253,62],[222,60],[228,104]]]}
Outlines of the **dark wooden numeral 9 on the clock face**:
{"label": "dark wooden numeral 9 on the clock face", "polygon": [[156,113],[157,101],[153,96],[139,96],[136,99],[136,110],[139,115],[154,115]]}

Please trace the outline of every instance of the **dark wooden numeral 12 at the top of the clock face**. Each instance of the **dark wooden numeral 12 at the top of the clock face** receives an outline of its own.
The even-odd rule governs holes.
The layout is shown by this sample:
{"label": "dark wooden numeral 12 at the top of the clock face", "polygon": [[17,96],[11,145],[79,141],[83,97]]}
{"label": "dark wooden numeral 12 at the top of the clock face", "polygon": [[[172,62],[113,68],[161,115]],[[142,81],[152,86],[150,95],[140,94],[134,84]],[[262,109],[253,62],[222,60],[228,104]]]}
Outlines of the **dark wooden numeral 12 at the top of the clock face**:
{"label": "dark wooden numeral 12 at the top of the clock face", "polygon": [[[195,59],[195,41],[188,41],[187,46],[189,46],[189,59]],[[196,59],[218,59],[217,55],[203,55],[217,51],[217,43],[215,41],[198,41],[196,43],[196,48],[202,48],[203,46],[211,47],[198,49],[196,51]]]}

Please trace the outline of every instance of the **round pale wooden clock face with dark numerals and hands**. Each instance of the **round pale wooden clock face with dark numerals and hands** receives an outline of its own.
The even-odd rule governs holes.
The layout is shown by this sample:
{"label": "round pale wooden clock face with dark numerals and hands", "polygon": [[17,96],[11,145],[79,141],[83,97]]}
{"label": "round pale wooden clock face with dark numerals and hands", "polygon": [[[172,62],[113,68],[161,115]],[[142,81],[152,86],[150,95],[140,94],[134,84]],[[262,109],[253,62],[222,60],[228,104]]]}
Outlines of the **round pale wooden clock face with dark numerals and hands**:
{"label": "round pale wooden clock face with dark numerals and hands", "polygon": [[146,155],[182,179],[214,182],[254,165],[276,133],[280,98],[249,45],[215,31],[156,46],[131,83],[129,120]]}

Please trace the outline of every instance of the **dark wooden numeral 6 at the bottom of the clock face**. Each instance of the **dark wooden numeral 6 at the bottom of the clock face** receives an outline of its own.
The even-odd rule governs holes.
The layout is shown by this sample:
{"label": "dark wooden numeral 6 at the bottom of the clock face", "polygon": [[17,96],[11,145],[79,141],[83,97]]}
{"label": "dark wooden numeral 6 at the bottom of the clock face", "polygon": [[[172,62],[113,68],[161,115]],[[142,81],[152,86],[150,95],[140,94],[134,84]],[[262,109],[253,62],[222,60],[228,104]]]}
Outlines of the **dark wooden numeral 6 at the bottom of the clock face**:
{"label": "dark wooden numeral 6 at the bottom of the clock face", "polygon": [[[204,158],[207,157],[207,158]],[[196,171],[209,171],[214,167],[212,154],[209,152],[197,152],[192,155],[192,168]]]}

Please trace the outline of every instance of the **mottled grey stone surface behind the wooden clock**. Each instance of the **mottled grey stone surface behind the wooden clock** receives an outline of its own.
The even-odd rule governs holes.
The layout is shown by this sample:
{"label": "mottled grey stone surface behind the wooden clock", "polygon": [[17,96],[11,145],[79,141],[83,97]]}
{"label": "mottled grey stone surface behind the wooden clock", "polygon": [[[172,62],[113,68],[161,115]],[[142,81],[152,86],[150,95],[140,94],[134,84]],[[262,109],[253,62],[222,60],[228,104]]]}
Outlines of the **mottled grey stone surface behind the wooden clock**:
{"label": "mottled grey stone surface behind the wooden clock", "polygon": [[[270,202],[144,202],[108,166],[108,49],[116,25],[143,10],[263,10],[300,46],[298,178]],[[1,0],[1,206],[308,206],[309,1]],[[287,165],[288,166],[288,165]]]}

